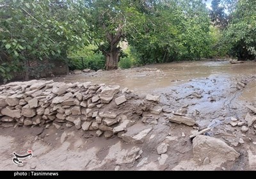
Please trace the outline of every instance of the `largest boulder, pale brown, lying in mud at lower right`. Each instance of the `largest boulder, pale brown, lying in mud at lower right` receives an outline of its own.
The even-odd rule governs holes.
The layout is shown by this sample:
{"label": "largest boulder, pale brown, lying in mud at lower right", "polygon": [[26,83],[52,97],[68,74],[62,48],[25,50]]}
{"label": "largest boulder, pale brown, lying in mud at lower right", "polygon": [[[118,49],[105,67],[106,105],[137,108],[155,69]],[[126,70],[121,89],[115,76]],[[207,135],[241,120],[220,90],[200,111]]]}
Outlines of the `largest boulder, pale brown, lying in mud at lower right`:
{"label": "largest boulder, pale brown, lying in mud at lower right", "polygon": [[209,157],[212,162],[221,163],[234,161],[240,154],[220,139],[199,135],[193,139],[193,156],[195,160]]}

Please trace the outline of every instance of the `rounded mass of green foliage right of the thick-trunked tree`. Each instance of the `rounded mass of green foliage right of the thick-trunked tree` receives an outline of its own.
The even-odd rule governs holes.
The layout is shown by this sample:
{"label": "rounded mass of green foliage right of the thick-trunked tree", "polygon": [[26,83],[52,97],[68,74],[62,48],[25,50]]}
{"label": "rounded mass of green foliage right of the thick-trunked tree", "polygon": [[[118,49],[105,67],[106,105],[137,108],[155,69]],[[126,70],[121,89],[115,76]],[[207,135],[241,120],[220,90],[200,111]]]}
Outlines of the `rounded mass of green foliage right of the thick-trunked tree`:
{"label": "rounded mass of green foliage right of the thick-trunked tree", "polygon": [[129,43],[140,54],[142,63],[209,56],[210,19],[202,1],[161,1],[154,4],[150,13],[143,15],[138,33],[128,37]]}

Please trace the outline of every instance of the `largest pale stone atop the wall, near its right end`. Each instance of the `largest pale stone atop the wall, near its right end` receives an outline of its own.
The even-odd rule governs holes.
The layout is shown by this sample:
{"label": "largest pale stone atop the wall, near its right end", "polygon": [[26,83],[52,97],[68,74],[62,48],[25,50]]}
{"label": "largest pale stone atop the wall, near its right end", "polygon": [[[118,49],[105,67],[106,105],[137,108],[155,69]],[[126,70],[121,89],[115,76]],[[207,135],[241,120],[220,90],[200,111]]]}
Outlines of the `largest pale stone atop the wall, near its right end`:
{"label": "largest pale stone atop the wall, near its right end", "polygon": [[102,89],[102,91],[99,94],[100,100],[102,103],[109,103],[114,95],[119,92],[120,86],[114,85],[114,86],[106,86]]}

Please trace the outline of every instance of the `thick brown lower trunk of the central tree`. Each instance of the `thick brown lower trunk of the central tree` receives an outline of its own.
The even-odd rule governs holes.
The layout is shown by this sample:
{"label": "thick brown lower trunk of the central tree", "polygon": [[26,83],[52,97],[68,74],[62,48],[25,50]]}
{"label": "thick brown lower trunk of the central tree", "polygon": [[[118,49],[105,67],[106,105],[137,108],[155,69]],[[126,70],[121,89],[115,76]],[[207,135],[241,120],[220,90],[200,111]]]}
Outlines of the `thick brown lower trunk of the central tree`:
{"label": "thick brown lower trunk of the central tree", "polygon": [[111,51],[106,53],[106,70],[116,70],[118,68],[119,49],[111,48]]}

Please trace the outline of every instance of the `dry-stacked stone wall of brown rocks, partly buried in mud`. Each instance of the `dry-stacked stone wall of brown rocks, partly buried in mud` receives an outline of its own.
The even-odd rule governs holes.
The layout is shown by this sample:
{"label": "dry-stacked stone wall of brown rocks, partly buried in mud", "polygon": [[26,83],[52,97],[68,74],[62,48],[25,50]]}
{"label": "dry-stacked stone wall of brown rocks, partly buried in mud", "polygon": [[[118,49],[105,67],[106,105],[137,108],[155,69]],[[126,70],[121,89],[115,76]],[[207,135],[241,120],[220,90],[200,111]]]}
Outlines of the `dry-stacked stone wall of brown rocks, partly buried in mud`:
{"label": "dry-stacked stone wall of brown rocks, partly buried in mud", "polygon": [[54,125],[95,130],[97,136],[111,137],[145,111],[153,114],[159,97],[139,97],[127,88],[91,82],[27,81],[0,86],[1,127]]}

